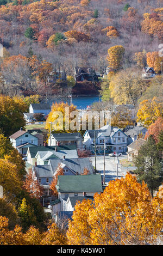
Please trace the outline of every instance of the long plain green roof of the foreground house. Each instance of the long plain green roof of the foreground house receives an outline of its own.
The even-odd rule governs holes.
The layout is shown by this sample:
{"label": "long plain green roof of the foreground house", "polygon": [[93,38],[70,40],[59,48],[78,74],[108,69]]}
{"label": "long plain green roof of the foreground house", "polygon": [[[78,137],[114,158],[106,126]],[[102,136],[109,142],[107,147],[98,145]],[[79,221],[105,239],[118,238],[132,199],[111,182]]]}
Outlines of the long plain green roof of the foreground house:
{"label": "long plain green roof of the foreground house", "polygon": [[58,192],[102,192],[101,175],[59,175]]}

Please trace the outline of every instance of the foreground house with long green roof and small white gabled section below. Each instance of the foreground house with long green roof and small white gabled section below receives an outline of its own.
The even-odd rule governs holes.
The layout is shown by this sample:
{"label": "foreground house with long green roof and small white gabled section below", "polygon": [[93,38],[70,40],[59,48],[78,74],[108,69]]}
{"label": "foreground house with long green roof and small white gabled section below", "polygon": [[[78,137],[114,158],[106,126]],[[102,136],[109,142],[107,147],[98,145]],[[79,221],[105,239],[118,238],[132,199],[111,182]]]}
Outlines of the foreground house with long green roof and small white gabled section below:
{"label": "foreground house with long green roof and small white gabled section below", "polygon": [[58,199],[51,203],[52,217],[55,221],[60,212],[73,213],[78,201],[93,200],[95,193],[103,192],[101,175],[59,175],[56,188]]}

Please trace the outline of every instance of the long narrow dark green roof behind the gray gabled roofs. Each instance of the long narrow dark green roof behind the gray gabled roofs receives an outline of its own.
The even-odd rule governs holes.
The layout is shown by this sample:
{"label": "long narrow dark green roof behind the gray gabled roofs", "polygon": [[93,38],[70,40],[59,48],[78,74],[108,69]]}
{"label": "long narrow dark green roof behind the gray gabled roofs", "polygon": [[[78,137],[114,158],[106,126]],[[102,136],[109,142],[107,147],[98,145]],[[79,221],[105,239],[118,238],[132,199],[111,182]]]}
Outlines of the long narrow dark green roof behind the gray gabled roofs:
{"label": "long narrow dark green roof behind the gray gabled roofs", "polygon": [[57,148],[57,150],[71,150],[71,149],[77,149],[76,145],[59,145],[59,146],[36,146],[36,147],[30,147],[29,153],[32,158],[34,158],[38,151],[53,151]]}

